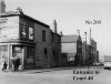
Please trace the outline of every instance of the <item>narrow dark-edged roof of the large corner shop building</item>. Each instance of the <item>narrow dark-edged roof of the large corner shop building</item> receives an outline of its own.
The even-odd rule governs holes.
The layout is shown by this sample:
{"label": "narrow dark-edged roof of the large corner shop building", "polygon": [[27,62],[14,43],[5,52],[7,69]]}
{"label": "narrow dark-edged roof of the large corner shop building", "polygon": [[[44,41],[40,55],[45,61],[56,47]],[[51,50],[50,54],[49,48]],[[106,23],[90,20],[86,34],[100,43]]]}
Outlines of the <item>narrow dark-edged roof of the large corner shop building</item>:
{"label": "narrow dark-edged roof of the large corner shop building", "polygon": [[43,22],[41,22],[41,21],[39,21],[39,20],[36,20],[36,19],[33,19],[33,18],[31,18],[31,17],[24,14],[23,12],[18,12],[18,11],[13,12],[13,11],[10,11],[10,12],[2,13],[2,14],[1,14],[1,18],[4,18],[4,17],[14,17],[14,15],[20,15],[20,17],[23,17],[23,18],[26,18],[26,19],[30,19],[30,20],[37,22],[38,24],[41,24],[41,25],[43,25],[43,27],[46,27],[46,28],[49,28],[48,24],[46,24],[46,23],[43,23]]}

